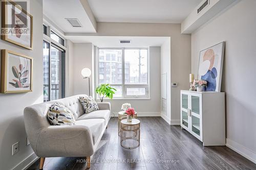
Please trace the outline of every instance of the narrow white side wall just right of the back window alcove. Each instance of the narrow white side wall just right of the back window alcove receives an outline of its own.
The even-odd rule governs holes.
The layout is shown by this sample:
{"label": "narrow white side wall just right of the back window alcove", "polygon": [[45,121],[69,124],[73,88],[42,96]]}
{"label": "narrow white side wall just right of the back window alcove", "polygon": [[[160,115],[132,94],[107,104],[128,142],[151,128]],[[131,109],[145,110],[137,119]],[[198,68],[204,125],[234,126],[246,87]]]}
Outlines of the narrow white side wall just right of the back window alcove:
{"label": "narrow white side wall just right of the back window alcove", "polygon": [[[166,74],[166,113],[161,112],[161,117],[170,124],[171,106],[171,80],[170,80],[170,38],[161,45],[161,75]],[[162,86],[161,86],[162,87]],[[161,89],[164,90],[165,89]]]}

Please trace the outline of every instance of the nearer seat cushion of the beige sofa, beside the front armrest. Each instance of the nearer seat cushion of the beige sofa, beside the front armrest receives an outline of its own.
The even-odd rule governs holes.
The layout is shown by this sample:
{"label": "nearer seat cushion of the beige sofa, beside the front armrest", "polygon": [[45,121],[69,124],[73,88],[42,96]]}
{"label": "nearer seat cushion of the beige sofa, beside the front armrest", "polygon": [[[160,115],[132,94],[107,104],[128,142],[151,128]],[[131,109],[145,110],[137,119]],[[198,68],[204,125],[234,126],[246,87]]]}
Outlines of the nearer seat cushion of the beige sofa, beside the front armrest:
{"label": "nearer seat cushion of the beige sofa, beside the front armrest", "polygon": [[76,125],[86,126],[91,130],[93,143],[98,140],[103,128],[105,126],[105,121],[103,118],[93,118],[93,119],[84,119],[84,120],[77,120]]}

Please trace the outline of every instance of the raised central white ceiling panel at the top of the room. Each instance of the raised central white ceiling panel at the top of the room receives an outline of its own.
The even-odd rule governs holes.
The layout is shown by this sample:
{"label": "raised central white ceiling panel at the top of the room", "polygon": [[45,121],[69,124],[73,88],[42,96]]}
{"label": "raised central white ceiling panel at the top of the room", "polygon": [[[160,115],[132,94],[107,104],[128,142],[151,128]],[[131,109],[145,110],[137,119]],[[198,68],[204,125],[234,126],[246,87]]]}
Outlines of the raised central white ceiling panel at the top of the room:
{"label": "raised central white ceiling panel at the top of the room", "polygon": [[98,22],[181,23],[202,0],[88,0]]}

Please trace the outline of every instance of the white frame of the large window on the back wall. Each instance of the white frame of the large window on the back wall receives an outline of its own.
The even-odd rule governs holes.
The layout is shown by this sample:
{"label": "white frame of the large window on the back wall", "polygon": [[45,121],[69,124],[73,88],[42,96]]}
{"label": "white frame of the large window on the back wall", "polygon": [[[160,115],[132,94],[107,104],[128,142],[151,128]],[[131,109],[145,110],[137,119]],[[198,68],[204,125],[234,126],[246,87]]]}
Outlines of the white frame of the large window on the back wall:
{"label": "white frame of the large window on the back wall", "polygon": [[[114,97],[113,99],[150,99],[150,63],[149,63],[149,49],[147,47],[97,47],[97,54],[96,54],[96,85],[99,85],[99,50],[100,49],[108,49],[108,50],[122,50],[122,83],[121,84],[110,84],[111,87],[115,88],[115,86],[122,87],[122,96]],[[125,60],[124,60],[124,51],[125,50],[147,50],[147,83],[146,84],[132,84],[127,83],[125,84]],[[127,95],[127,88],[145,88],[145,95]],[[97,99],[99,96],[95,93]]]}

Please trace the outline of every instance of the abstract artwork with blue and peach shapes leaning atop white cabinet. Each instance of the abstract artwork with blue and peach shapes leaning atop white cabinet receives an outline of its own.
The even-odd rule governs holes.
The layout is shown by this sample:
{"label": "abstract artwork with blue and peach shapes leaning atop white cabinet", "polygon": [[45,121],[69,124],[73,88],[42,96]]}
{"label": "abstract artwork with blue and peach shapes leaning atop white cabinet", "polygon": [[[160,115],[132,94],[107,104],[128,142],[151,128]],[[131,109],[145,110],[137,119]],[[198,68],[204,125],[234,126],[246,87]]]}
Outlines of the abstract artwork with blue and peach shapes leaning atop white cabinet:
{"label": "abstract artwork with blue and peach shapes leaning atop white cabinet", "polygon": [[221,91],[224,50],[221,42],[200,52],[198,80],[207,81],[206,91]]}

